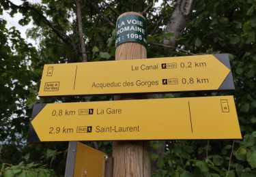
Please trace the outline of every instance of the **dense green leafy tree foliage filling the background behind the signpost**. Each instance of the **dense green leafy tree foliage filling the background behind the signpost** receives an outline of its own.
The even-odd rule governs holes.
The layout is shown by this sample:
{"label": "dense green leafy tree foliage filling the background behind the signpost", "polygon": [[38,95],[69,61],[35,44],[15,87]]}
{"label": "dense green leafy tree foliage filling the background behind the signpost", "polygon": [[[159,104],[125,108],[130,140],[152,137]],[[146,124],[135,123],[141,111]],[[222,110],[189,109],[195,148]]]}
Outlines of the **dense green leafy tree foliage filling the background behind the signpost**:
{"label": "dense green leafy tree foliage filling the background behind the signpost", "polygon": [[[156,2],[43,0],[42,3],[23,1],[16,5],[14,1],[0,0],[0,13],[6,10],[11,15],[23,14],[19,23],[27,25],[32,21],[34,26],[27,34],[39,41],[38,49],[33,48],[15,28],[6,29],[6,22],[1,19],[0,176],[22,173],[27,173],[27,176],[29,173],[53,175],[53,171],[46,169],[53,169],[57,176],[63,175],[68,143],[25,142],[33,103],[98,101],[112,97],[38,99],[42,67],[46,63],[81,62],[84,53],[89,62],[114,60],[115,21],[119,14],[128,11],[144,11],[150,43],[148,58],[229,53],[236,84],[236,91],[227,93],[161,95],[235,95],[243,139],[167,141],[162,157],[152,151],[157,167],[152,176],[256,176],[255,1],[194,0],[184,31],[178,36],[168,31],[172,27],[168,24],[181,1],[162,1],[160,7],[147,8]],[[85,52],[81,49],[77,3],[81,5],[80,26]],[[175,44],[167,42],[163,45],[173,36]],[[85,143],[91,145],[91,142]],[[161,142],[152,142],[152,149],[159,146]],[[111,142],[98,142],[98,148],[111,155]]]}

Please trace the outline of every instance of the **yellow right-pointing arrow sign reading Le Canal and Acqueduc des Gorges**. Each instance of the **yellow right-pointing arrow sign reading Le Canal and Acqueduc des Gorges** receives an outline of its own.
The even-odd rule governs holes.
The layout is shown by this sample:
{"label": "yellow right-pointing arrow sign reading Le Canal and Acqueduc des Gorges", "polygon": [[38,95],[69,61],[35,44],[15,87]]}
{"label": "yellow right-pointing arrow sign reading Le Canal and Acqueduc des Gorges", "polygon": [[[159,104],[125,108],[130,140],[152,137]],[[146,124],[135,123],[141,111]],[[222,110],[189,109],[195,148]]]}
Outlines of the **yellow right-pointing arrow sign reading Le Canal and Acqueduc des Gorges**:
{"label": "yellow right-pointing arrow sign reading Le Canal and Acqueduc des Gorges", "polygon": [[44,65],[39,96],[234,89],[227,54]]}

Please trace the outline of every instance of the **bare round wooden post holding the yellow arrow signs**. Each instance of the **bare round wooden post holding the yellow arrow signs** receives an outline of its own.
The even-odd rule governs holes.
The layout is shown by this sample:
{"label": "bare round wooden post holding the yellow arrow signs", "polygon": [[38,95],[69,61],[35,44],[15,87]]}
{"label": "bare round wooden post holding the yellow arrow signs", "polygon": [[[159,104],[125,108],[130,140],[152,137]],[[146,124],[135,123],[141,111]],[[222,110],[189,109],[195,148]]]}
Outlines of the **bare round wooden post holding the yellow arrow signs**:
{"label": "bare round wooden post holding the yellow arrow signs", "polygon": [[[141,16],[137,12],[126,12],[127,15]],[[117,20],[118,20],[117,18]],[[115,60],[146,59],[145,46],[135,42],[126,42],[117,46]],[[115,99],[141,99],[140,95],[115,96]],[[139,117],[138,117],[139,118]],[[150,142],[149,141],[115,141],[113,142],[113,177],[150,176]]]}

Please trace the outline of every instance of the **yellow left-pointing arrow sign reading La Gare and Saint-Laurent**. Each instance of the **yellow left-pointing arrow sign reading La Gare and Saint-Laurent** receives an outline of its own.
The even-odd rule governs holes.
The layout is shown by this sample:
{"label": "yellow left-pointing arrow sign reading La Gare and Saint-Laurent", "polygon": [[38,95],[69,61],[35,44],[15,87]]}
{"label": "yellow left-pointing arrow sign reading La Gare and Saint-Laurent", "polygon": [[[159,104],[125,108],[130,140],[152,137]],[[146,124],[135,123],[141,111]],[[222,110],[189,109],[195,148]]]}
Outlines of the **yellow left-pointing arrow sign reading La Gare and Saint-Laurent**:
{"label": "yellow left-pointing arrow sign reading La Gare and Saint-Laurent", "polygon": [[233,96],[37,104],[29,142],[241,138]]}

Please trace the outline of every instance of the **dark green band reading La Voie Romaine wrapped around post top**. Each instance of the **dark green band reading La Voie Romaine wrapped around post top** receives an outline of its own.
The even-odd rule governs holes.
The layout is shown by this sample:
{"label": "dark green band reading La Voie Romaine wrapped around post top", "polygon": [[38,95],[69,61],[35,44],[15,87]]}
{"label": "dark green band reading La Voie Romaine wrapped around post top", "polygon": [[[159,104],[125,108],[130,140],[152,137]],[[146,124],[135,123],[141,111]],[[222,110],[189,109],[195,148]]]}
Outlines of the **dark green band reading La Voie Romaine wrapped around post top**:
{"label": "dark green band reading La Voie Romaine wrapped around post top", "polygon": [[141,16],[128,15],[117,19],[115,47],[125,42],[137,42],[147,47],[145,19]]}

